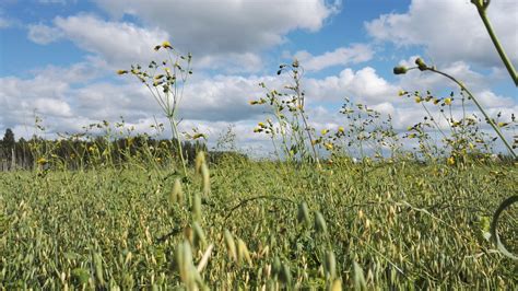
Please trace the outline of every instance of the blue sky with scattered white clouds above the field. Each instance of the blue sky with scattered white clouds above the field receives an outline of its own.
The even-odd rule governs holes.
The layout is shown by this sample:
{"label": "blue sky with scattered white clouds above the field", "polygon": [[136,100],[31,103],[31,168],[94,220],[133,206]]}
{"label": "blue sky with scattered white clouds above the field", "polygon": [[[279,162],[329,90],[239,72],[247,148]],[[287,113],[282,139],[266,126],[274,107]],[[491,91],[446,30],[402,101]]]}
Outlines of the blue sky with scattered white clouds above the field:
{"label": "blue sky with scattered white clouds above the field", "polygon": [[[518,4],[492,1],[488,16],[518,66]],[[417,56],[462,80],[493,116],[518,112],[518,91],[469,0],[2,0],[0,132],[28,138],[36,115],[49,138],[120,116],[150,131],[166,120],[158,105],[116,72],[162,60],[153,47],[164,40],[192,54],[180,129],[198,128],[210,143],[232,127],[238,147],[264,147],[254,128],[267,113],[249,102],[264,96],[260,82],[282,89],[276,70],[294,58],[317,130],[344,123],[344,97],[390,114],[401,131],[421,120],[421,105],[400,90],[458,90],[428,72],[392,74]]]}

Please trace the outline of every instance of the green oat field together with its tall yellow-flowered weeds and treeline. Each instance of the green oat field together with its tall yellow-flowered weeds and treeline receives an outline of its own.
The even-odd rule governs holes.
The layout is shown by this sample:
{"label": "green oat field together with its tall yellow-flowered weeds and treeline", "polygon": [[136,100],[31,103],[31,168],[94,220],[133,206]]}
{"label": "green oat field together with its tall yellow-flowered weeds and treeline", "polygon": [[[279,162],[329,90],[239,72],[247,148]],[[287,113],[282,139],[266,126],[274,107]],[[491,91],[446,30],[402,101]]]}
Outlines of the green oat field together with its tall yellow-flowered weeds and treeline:
{"label": "green oat field together with its tall yellow-flowered weeds and treeline", "polygon": [[[266,96],[250,101],[268,109],[250,130],[270,137],[276,159],[239,153],[232,127],[205,156],[203,133],[184,132],[184,142],[178,131],[191,56],[168,42],[160,49],[169,60],[150,72],[118,73],[150,90],[170,140],[157,138],[163,125],[134,135],[123,120],[55,141],[5,131],[0,152],[31,166],[0,175],[0,289],[518,287],[518,141],[502,132],[516,132],[514,115],[488,116],[461,82],[417,58],[395,73],[439,73],[460,91],[400,92],[424,114],[405,132],[350,98],[342,125],[317,132],[294,60],[278,72],[290,84],[261,83]],[[467,113],[470,101],[484,119]],[[484,121],[509,155],[493,154]],[[36,128],[45,131],[39,119]]]}

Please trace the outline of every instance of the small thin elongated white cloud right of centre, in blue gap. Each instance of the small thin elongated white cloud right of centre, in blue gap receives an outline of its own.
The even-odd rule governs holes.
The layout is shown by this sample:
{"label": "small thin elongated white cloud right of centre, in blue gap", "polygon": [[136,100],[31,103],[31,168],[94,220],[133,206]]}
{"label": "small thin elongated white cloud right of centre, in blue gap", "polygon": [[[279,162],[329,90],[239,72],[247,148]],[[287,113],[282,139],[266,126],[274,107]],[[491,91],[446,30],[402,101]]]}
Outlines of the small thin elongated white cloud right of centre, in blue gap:
{"label": "small thin elongated white cloud right of centre, in blue gap", "polygon": [[374,53],[369,46],[354,44],[350,47],[340,47],[319,56],[313,56],[306,50],[301,50],[295,53],[294,57],[303,63],[305,70],[319,71],[329,67],[368,61],[373,58],[373,55]]}

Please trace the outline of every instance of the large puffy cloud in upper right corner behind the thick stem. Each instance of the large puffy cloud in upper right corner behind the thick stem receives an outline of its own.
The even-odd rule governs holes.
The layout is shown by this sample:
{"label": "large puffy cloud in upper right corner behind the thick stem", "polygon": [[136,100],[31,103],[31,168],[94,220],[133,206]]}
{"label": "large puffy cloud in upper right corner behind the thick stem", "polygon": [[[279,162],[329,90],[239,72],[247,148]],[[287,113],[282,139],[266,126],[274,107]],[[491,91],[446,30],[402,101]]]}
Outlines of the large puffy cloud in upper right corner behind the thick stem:
{"label": "large puffy cloud in upper right corner behind the thick stem", "polygon": [[[518,62],[518,5],[514,0],[492,1],[488,18],[508,56]],[[456,60],[502,66],[491,38],[470,1],[412,0],[408,12],[380,15],[366,22],[376,39],[399,46],[423,45],[439,63]]]}

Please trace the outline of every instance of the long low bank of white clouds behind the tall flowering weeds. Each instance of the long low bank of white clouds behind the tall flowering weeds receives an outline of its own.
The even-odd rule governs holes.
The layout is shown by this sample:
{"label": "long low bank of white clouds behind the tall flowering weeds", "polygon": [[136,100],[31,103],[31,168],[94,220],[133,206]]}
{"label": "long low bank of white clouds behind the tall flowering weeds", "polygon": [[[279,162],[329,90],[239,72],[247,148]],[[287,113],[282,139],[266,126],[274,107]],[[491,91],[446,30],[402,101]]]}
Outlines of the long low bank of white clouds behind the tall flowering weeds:
{"label": "long low bank of white clouds behind the tall flowering weeds", "polygon": [[[154,117],[166,124],[157,104],[142,84],[128,79],[128,83],[108,83],[98,81],[101,72],[89,72],[89,66],[76,63],[68,68],[48,67],[33,71],[34,78],[0,78],[0,130],[5,127],[22,130],[34,121],[34,109],[44,118],[49,132],[75,132],[82,126],[106,119],[116,121],[123,116],[128,125],[134,125],[139,132],[150,132]],[[461,65],[450,68],[460,70]],[[410,74],[409,74],[410,75]],[[282,89],[289,79],[286,75],[215,75],[193,77],[189,80],[184,100],[180,103],[181,130],[198,127],[209,133],[210,142],[214,142],[219,132],[231,123],[236,125],[239,147],[263,147],[269,151],[268,138],[252,132],[258,121],[264,119],[267,107],[250,106],[251,100],[264,95],[258,83],[264,82],[270,89]],[[122,79],[123,80],[123,79]],[[391,114],[397,129],[422,120],[426,114],[421,104],[397,97],[403,80],[390,83],[375,69],[366,67],[360,70],[344,69],[338,75],[325,79],[304,79],[306,90],[307,113],[311,126],[317,129],[337,128],[345,119],[339,114],[344,96],[365,103],[373,109]],[[434,81],[435,82],[435,81]],[[431,82],[429,84],[433,84]],[[471,82],[468,80],[468,82]],[[499,96],[485,86],[479,96],[484,105],[490,106],[491,114],[502,110],[509,115],[517,110],[516,102]],[[469,113],[476,112],[468,107]],[[436,108],[432,108],[437,114]],[[460,110],[455,115],[459,116]],[[438,116],[438,115],[437,115]],[[26,136],[33,130],[15,131]],[[167,131],[168,132],[168,131]],[[212,143],[213,144],[213,143]]]}

